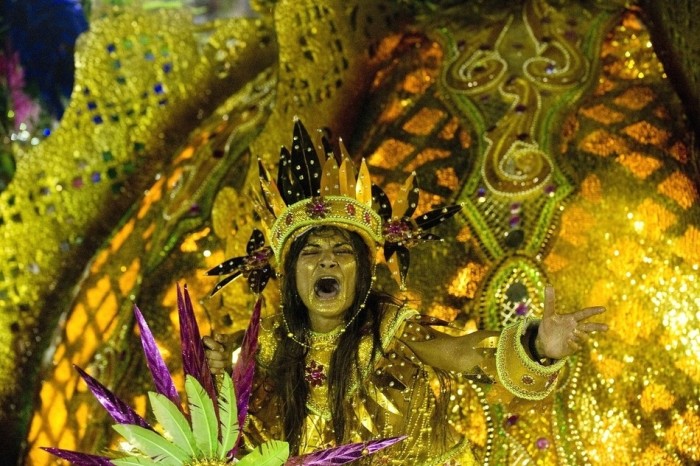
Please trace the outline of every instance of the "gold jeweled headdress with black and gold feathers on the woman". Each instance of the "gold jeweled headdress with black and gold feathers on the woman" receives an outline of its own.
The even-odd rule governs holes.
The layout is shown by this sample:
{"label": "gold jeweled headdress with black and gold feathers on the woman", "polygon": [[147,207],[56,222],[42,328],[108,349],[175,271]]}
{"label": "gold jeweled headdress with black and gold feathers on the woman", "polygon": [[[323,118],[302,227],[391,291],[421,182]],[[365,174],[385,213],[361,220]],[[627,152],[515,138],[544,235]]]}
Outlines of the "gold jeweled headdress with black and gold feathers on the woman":
{"label": "gold jeweled headdress with black and gold feathers on the woman", "polygon": [[[419,195],[415,173],[405,181],[392,204],[384,191],[372,184],[364,159],[358,172],[342,141],[339,146],[337,157],[328,140],[321,137],[319,157],[306,128],[294,119],[291,150],[283,146],[280,151],[277,181],[262,163],[258,164],[261,196],[257,210],[266,234],[255,230],[246,256],[228,259],[207,272],[228,275],[212,294],[241,275],[254,293],[260,293],[274,273],[272,256],[277,264],[283,264],[294,239],[318,226],[354,231],[371,251],[383,247],[392,276],[401,288],[405,287],[409,247],[440,239],[427,230],[455,215],[461,206],[450,205],[413,218]],[[265,245],[265,236],[270,246]]]}

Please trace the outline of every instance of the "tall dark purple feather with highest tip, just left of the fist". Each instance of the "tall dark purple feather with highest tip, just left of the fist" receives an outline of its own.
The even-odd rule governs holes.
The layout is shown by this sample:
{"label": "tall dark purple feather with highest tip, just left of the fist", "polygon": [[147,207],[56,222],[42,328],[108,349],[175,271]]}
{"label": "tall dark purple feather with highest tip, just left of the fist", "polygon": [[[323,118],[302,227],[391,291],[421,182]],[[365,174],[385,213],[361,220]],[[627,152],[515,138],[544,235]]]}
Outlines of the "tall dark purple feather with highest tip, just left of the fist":
{"label": "tall dark purple feather with highest tip, just left of the fist", "polygon": [[[180,318],[180,345],[182,346],[182,367],[185,375],[191,375],[202,384],[212,400],[217,399],[214,381],[209,371],[209,364],[204,354],[204,345],[199,336],[199,327],[194,317],[192,301],[185,285],[184,297],[177,286],[177,309]],[[219,417],[218,405],[214,403],[216,416]]]}

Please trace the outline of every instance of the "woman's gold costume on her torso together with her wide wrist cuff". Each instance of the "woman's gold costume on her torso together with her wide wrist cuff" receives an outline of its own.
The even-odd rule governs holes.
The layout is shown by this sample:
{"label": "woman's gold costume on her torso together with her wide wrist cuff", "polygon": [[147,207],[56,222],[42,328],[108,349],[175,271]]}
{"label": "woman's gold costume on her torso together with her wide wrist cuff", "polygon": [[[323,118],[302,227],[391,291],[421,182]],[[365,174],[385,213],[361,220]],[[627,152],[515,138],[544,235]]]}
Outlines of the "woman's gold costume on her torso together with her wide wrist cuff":
{"label": "woman's gold costume on her torso together with her wide wrist cuff", "polygon": [[[437,319],[420,315],[407,307],[387,306],[382,318],[381,351],[372,354],[371,335],[363,336],[359,348],[359,367],[351,378],[345,402],[346,434],[344,442],[363,442],[406,435],[397,445],[371,457],[372,464],[471,465],[476,464],[470,444],[439,419],[438,404],[449,397],[449,384],[435,383],[435,371],[423,364],[406,342],[439,337],[431,325]],[[275,329],[279,322],[270,318],[261,329],[257,381],[250,403],[251,416],[246,426],[250,444],[283,438],[280,400],[274,395],[275,374],[266,368],[277,347]],[[522,362],[526,355],[518,349],[520,331],[513,326],[500,339],[488,337],[477,345],[489,354],[485,363],[470,374],[500,383],[509,392],[528,398],[546,395],[553,388],[559,367],[538,368]],[[305,379],[309,387],[307,416],[300,454],[335,446],[327,374],[341,327],[326,334],[312,333],[305,361]],[[509,338],[512,337],[512,338]],[[516,343],[516,344],[513,344]],[[498,350],[497,350],[498,347]],[[477,349],[475,348],[475,349]],[[499,352],[500,351],[500,352]],[[496,368],[498,365],[501,368]],[[526,367],[527,366],[527,367]],[[516,386],[518,379],[521,386]],[[541,385],[538,383],[541,382]],[[494,390],[497,392],[498,390]],[[537,395],[535,395],[535,392]],[[368,461],[370,458],[368,458]]]}

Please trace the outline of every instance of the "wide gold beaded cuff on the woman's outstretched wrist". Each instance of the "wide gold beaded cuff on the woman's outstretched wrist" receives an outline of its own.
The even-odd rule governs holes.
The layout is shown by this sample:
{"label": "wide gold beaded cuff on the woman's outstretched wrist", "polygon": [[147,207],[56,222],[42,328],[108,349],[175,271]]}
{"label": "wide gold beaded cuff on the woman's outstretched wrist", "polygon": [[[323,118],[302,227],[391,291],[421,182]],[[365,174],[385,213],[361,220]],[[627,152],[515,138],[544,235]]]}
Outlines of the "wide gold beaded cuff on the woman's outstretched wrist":
{"label": "wide gold beaded cuff on the woman's outstretched wrist", "polygon": [[528,327],[538,323],[525,319],[503,329],[496,349],[496,371],[501,384],[511,393],[526,400],[541,400],[554,389],[565,359],[543,366],[533,361],[525,351],[521,336]]}

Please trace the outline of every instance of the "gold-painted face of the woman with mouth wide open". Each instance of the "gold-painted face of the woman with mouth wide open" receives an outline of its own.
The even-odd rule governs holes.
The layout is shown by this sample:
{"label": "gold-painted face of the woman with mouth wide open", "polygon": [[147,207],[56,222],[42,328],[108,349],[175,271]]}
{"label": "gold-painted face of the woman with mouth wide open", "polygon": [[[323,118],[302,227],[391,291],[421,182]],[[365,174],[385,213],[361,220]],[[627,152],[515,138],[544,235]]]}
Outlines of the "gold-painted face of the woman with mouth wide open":
{"label": "gold-painted face of the woman with mouth wide open", "polygon": [[343,323],[355,300],[357,260],[341,230],[311,232],[296,263],[296,287],[309,310],[311,329],[328,332]]}

